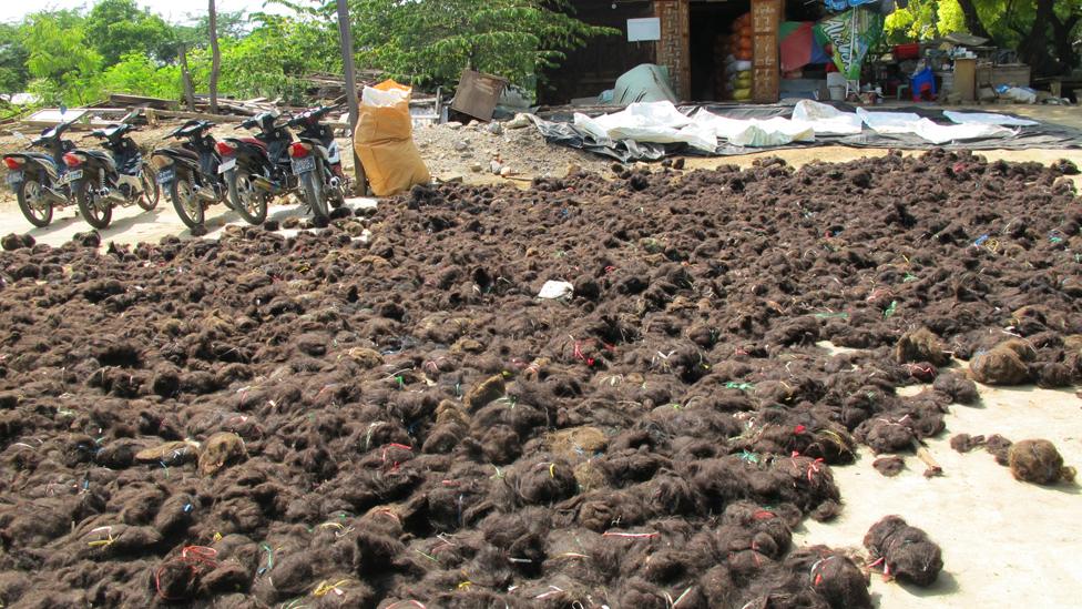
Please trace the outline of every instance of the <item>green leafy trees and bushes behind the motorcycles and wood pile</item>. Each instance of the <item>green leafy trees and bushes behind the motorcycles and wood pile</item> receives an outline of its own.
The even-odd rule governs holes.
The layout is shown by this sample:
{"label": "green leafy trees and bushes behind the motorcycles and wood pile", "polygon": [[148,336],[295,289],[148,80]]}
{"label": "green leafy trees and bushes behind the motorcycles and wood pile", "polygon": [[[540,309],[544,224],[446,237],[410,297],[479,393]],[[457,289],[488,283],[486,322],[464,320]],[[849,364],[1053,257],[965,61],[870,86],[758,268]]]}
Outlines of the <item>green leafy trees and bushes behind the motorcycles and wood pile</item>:
{"label": "green leafy trees and bushes behind the motorcycles and wood pile", "polygon": [[[223,95],[297,102],[316,71],[341,71],[335,2],[269,0],[297,16],[218,13]],[[449,84],[470,67],[533,87],[564,52],[619,31],[569,14],[569,0],[349,0],[358,65],[415,85]],[[118,91],[178,99],[180,45],[196,90],[210,77],[206,16],[170,26],[135,0],[98,0],[89,12],[41,11],[0,29],[0,88],[69,105]],[[202,19],[202,22],[198,21]],[[24,71],[20,72],[20,67]]]}

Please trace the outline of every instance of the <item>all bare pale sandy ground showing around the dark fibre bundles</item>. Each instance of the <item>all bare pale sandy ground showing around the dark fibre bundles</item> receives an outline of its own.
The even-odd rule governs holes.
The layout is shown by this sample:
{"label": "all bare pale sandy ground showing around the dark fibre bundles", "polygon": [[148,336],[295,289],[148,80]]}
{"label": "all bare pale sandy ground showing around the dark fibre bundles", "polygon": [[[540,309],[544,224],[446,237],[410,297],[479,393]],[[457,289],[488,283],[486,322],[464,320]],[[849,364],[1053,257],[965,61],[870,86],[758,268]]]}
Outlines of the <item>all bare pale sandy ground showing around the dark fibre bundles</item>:
{"label": "all bare pale sandy ground showing around the dark fibre bundles", "polygon": [[[1082,111],[1078,108],[986,106],[983,110],[1006,110],[1082,128]],[[423,143],[422,155],[439,177],[458,175],[472,183],[500,182],[500,177],[487,171],[474,172],[468,166],[487,164],[489,156],[500,156],[511,164],[518,159],[517,164],[533,174],[562,175],[571,164],[601,171],[610,164],[585,158],[578,151],[539,144],[539,136],[523,130],[502,134],[482,129],[447,131],[431,128],[417,134],[418,142]],[[157,135],[141,134],[146,141]],[[463,140],[469,141],[468,146],[457,150],[456,143]],[[0,149],[10,145],[0,141]],[[509,152],[514,150],[519,152]],[[726,163],[747,166],[755,159],[768,155],[799,166],[813,161],[840,162],[886,153],[887,150],[880,149],[839,146],[795,149],[737,158],[691,158],[686,166],[688,170]],[[1082,166],[1082,151],[1078,150],[981,154],[990,160],[1042,163],[1069,159]],[[1082,189],[1082,182],[1076,183]],[[351,206],[374,204],[374,200],[350,202]],[[298,205],[275,205],[269,217],[280,220],[290,215],[305,215],[305,211]],[[208,210],[210,237],[221,234],[226,224],[243,224],[243,221],[223,205]],[[0,199],[0,234],[29,232],[39,242],[60,245],[90,227],[78,217],[74,207],[68,207],[58,210],[51,226],[28,229],[29,223],[10,194]],[[104,243],[157,241],[174,234],[190,236],[164,197],[152,212],[137,207],[116,210],[112,226],[102,231]],[[882,516],[897,514],[927,530],[943,547],[946,568],[937,585],[929,589],[885,582],[874,574],[871,590],[882,609],[1082,606],[1075,598],[1076,590],[1082,589],[1082,569],[1076,560],[1082,549],[1078,536],[1078,515],[1082,514],[1079,487],[1018,483],[983,450],[961,455],[949,446],[950,437],[959,433],[998,433],[1012,440],[1043,437],[1057,444],[1068,464],[1082,469],[1082,399],[1073,390],[1034,387],[982,386],[981,395],[983,403],[978,407],[953,406],[946,419],[947,432],[928,441],[930,451],[943,467],[943,476],[925,478],[923,464],[910,456],[908,468],[901,475],[886,478],[872,469],[874,456],[862,447],[856,464],[834,470],[846,504],[841,516],[829,524],[808,521],[797,531],[796,542],[853,547],[864,554],[860,544],[868,528]]]}

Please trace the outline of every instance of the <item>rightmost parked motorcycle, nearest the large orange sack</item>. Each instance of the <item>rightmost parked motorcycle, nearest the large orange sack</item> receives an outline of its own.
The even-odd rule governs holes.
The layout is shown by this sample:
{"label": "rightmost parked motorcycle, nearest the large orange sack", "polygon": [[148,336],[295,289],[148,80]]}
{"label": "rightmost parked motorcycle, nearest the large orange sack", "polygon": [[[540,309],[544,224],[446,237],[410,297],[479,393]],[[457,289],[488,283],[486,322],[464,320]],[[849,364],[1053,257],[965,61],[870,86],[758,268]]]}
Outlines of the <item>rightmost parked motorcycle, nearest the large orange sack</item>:
{"label": "rightmost parked motorcycle, nearest the large orange sack", "polygon": [[346,201],[348,179],[341,170],[341,154],[334,130],[320,123],[330,112],[319,106],[289,119],[287,128],[299,129],[296,142],[289,144],[290,169],[299,177],[300,191],[316,220],[328,220],[330,207]]}

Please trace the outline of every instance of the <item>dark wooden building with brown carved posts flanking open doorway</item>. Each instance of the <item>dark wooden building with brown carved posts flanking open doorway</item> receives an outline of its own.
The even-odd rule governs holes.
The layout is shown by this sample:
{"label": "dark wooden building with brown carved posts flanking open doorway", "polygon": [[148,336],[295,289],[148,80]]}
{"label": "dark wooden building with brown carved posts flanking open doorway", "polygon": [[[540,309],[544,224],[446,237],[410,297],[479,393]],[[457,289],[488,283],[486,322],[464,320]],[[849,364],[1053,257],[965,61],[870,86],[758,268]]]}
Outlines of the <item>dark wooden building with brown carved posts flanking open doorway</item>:
{"label": "dark wooden building with brown carved posts flanking open doorway", "polygon": [[[573,14],[591,24],[608,26],[621,37],[602,37],[568,54],[547,74],[539,91],[543,103],[568,103],[611,89],[616,78],[640,63],[668,69],[681,100],[710,101],[712,79],[723,57],[716,40],[742,14],[752,13],[753,101],[778,99],[778,26],[780,21],[816,19],[821,1],[814,0],[575,0]],[[656,19],[656,40],[629,41],[629,20]]]}

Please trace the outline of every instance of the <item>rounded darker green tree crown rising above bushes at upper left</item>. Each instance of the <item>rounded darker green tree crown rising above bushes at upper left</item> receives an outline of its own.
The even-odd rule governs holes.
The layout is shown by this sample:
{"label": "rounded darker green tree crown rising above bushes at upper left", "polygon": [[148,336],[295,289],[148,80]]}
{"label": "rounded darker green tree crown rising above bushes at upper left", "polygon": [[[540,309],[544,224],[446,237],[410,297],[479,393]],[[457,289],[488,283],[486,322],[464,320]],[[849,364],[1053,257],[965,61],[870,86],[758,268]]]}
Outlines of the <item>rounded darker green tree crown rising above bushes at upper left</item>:
{"label": "rounded darker green tree crown rising above bushes at upper left", "polygon": [[86,17],[86,38],[105,65],[132,52],[159,61],[176,58],[173,29],[157,14],[140,9],[135,0],[100,0]]}

